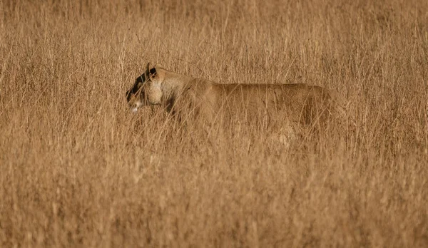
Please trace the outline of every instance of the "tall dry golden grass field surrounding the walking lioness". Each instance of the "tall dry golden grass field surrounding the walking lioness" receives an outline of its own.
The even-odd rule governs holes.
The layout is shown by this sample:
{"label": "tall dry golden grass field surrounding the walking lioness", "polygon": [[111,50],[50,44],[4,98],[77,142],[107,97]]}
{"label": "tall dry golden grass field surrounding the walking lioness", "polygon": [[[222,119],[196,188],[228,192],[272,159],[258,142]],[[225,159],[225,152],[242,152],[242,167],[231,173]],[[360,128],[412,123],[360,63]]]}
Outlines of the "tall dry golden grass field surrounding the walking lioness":
{"label": "tall dry golden grass field surrounding the walking lioness", "polygon": [[[147,63],[308,83],[286,150],[129,111]],[[428,1],[0,1],[0,247],[428,247]]]}

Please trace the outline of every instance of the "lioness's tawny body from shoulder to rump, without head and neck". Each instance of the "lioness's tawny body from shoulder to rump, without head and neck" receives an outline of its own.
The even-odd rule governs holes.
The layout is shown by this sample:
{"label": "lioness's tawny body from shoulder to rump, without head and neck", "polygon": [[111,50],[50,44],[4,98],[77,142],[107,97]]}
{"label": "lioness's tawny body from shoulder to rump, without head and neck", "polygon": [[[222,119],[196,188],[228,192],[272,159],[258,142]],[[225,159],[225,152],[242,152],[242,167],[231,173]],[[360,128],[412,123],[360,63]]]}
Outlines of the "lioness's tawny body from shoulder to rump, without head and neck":
{"label": "lioness's tawny body from shoulder to rump, without head and neck", "polygon": [[[185,91],[188,113],[208,122],[311,124],[345,115],[334,91],[306,84],[222,84],[194,79]],[[280,124],[279,124],[280,125]]]}

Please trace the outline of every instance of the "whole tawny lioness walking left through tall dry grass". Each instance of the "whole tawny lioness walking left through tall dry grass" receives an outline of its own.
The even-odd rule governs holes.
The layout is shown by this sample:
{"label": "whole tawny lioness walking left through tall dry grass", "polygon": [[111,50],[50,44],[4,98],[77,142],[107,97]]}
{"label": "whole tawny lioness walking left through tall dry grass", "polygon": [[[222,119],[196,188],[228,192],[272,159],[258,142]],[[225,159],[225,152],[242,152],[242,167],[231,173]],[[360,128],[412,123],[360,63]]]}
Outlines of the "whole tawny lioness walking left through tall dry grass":
{"label": "whole tawny lioness walking left through tall dry grass", "polygon": [[336,93],[306,84],[223,84],[167,71],[148,63],[126,92],[133,112],[145,105],[163,105],[180,120],[200,123],[255,123],[272,130],[295,130],[343,115]]}

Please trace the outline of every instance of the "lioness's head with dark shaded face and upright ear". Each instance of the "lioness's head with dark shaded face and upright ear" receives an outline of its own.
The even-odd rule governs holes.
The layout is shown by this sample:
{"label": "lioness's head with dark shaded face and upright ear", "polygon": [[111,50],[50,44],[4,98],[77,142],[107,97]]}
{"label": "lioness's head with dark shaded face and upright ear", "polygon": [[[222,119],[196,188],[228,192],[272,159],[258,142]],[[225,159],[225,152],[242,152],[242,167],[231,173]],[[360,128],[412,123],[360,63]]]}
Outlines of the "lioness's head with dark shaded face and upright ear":
{"label": "lioness's head with dark shaded face and upright ear", "polygon": [[132,112],[144,105],[161,104],[163,98],[162,83],[165,71],[160,65],[148,63],[147,70],[136,78],[132,88],[126,91],[126,100]]}

